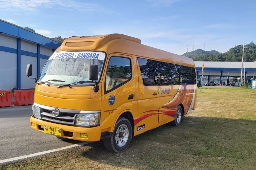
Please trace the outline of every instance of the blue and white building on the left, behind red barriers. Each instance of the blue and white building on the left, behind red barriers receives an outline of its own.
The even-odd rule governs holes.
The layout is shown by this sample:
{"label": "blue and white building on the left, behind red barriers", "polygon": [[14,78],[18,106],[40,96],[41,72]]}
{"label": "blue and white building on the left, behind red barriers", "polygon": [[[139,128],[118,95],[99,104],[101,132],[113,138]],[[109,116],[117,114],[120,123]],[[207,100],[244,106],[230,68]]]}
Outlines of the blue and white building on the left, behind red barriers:
{"label": "blue and white building on the left, behind red barriers", "polygon": [[0,90],[34,88],[26,76],[27,64],[33,66],[32,77],[39,77],[49,56],[61,44],[43,35],[30,32],[0,20]]}

